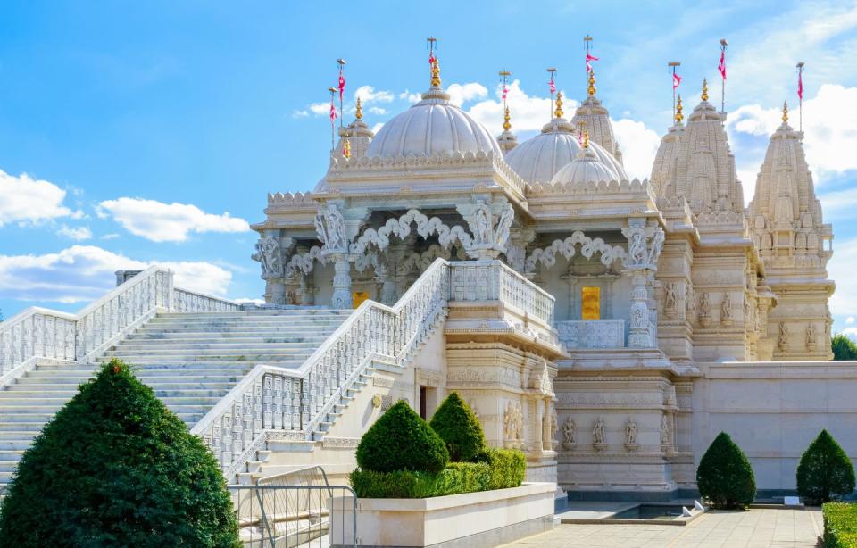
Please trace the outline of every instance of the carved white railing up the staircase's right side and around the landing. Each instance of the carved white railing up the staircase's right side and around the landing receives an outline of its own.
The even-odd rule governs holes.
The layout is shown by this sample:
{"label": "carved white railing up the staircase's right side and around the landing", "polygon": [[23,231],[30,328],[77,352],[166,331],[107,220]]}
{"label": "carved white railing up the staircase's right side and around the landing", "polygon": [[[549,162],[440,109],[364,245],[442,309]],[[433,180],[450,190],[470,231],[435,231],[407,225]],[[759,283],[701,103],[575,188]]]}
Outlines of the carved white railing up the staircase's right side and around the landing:
{"label": "carved white railing up the staircase's right side and around the landing", "polygon": [[449,301],[491,300],[553,320],[553,296],[502,262],[437,259],[392,308],[363,302],[300,368],[257,365],[191,433],[203,437],[231,479],[270,437],[312,441],[371,363],[404,366],[445,318]]}

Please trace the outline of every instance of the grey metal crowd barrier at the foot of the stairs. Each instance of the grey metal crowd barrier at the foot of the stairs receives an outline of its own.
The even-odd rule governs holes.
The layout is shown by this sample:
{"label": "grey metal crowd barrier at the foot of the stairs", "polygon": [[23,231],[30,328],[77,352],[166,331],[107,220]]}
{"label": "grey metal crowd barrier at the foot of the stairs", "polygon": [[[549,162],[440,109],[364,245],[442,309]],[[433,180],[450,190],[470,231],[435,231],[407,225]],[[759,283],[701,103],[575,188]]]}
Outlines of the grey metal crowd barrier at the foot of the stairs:
{"label": "grey metal crowd barrier at the foot of the stairs", "polygon": [[[357,546],[357,495],[350,486],[229,486],[229,493],[245,548]],[[349,511],[337,512],[338,527],[330,522],[334,497],[342,506],[350,499]]]}

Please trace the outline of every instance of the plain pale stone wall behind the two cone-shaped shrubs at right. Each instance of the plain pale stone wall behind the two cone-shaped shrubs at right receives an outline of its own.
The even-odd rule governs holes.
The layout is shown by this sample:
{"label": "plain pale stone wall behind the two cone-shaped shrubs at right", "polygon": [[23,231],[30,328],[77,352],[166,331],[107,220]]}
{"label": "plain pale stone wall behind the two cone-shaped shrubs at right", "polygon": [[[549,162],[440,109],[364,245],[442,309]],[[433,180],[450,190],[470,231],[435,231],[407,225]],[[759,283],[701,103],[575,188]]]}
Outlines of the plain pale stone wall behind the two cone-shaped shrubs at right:
{"label": "plain pale stone wall behind the two cone-shaped shrubs at right", "polygon": [[857,464],[857,361],[698,365],[695,464],[722,430],[750,458],[759,489],[795,489],[797,464],[822,428]]}

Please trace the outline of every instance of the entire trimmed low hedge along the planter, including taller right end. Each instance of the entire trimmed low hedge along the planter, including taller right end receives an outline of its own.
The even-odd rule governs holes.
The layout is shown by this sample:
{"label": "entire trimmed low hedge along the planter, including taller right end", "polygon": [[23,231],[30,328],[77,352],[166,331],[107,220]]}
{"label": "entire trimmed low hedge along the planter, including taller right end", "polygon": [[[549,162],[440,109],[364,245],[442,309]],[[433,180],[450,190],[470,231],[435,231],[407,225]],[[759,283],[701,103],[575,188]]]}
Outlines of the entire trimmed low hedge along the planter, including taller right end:
{"label": "entire trimmed low hedge along the planter, including taller right end", "polygon": [[524,453],[499,449],[482,452],[478,457],[484,461],[450,462],[437,473],[355,469],[351,486],[360,498],[421,499],[517,487],[523,482],[527,469]]}

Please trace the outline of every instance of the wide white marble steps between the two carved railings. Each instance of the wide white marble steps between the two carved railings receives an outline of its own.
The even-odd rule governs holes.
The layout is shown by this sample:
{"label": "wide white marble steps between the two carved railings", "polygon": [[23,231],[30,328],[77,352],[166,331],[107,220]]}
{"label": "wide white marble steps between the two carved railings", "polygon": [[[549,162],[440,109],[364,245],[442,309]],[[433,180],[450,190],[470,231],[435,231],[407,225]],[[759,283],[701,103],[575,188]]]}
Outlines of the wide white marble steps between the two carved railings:
{"label": "wide white marble steps between the two carved railings", "polygon": [[[191,428],[254,366],[300,366],[349,312],[161,313],[98,361],[127,361]],[[0,391],[0,490],[38,431],[96,369],[87,363],[37,365]]]}

